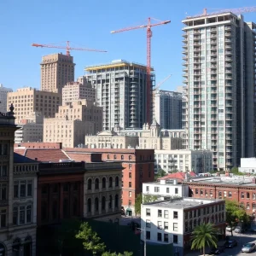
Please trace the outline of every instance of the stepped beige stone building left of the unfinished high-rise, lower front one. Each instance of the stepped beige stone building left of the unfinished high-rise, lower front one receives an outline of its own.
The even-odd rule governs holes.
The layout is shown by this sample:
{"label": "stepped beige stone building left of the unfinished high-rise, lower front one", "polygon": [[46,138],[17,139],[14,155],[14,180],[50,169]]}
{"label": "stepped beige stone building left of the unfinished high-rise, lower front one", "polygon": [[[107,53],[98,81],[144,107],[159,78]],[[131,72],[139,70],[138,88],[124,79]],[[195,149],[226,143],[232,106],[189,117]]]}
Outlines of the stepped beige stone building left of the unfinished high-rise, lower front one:
{"label": "stepped beige stone building left of the unfinished high-rise, lower front one", "polygon": [[102,131],[102,108],[81,100],[59,107],[55,118],[44,119],[44,143],[62,143],[63,147],[84,144],[85,135]]}

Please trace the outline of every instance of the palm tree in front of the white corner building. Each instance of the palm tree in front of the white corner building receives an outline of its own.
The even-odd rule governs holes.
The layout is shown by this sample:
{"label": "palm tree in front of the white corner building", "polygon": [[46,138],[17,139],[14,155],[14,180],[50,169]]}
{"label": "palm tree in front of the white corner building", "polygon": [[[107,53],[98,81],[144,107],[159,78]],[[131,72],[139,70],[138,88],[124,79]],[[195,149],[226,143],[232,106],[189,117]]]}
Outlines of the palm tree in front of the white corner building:
{"label": "palm tree in front of the white corner building", "polygon": [[192,232],[191,241],[191,249],[203,249],[205,255],[206,246],[217,247],[217,230],[210,223],[201,224]]}

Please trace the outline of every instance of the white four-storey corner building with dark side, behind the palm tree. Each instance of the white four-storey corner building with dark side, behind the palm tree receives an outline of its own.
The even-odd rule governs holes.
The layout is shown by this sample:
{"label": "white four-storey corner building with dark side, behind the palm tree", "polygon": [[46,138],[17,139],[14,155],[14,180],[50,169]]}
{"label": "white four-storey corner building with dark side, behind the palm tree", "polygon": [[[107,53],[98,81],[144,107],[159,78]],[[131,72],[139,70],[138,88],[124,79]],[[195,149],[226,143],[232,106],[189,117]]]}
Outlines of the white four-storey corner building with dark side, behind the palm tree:
{"label": "white four-storey corner building with dark side, behind the palm tree", "polygon": [[224,200],[184,197],[171,201],[143,203],[141,239],[144,242],[159,244],[172,243],[174,253],[183,255],[183,248],[191,247],[192,231],[203,223],[214,224],[224,239],[226,227]]}

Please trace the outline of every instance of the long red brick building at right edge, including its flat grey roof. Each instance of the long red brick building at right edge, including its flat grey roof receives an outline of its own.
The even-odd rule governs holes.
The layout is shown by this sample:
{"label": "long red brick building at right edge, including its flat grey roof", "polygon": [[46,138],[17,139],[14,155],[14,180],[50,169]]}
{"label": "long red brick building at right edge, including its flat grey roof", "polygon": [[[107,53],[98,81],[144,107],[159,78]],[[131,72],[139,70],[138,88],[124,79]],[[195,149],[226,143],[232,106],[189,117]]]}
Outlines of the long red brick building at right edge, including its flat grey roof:
{"label": "long red brick building at right edge, including its flat grey roof", "polygon": [[241,204],[249,215],[256,217],[255,177],[201,177],[183,181],[198,199],[228,199]]}

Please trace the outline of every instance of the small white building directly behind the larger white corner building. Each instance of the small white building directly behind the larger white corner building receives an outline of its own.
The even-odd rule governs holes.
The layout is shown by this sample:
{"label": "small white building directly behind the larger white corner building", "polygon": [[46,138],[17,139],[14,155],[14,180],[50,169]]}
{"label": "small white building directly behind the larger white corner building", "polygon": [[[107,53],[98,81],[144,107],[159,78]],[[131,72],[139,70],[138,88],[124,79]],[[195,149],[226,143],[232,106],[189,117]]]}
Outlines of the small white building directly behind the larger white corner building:
{"label": "small white building directly behind the larger white corner building", "polygon": [[189,197],[189,185],[178,183],[177,179],[161,179],[159,182],[143,183],[143,198],[153,196],[155,201],[177,197]]}

